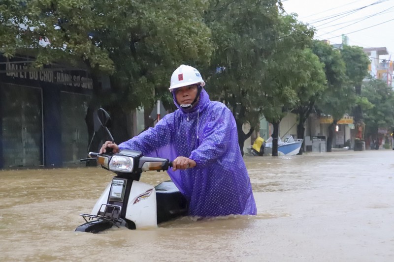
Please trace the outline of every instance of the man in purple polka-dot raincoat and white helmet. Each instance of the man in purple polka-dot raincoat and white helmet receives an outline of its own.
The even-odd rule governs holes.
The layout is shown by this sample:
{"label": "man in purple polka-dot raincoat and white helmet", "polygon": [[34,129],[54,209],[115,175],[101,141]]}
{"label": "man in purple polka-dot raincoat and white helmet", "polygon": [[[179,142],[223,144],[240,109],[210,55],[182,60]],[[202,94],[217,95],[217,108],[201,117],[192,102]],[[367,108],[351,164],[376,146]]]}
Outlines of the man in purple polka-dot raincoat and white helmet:
{"label": "man in purple polka-dot raincoat and white helmet", "polygon": [[178,110],[119,146],[105,142],[100,153],[106,147],[114,153],[133,149],[172,160],[168,175],[188,200],[191,216],[256,215],[235,119],[223,103],[209,100],[204,86],[196,68],[181,65],[169,87]]}

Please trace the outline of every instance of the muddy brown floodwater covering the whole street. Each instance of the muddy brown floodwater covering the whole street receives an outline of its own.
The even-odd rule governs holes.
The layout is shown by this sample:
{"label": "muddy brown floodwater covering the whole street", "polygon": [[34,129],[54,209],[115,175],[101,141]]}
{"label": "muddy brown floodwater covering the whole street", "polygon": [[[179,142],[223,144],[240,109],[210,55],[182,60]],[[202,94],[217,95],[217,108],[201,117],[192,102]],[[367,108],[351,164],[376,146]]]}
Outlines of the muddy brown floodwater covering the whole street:
{"label": "muddy brown floodwater covering the whole street", "polygon": [[[394,151],[245,157],[257,216],[76,233],[113,176],[0,171],[0,261],[394,261]],[[165,173],[145,173],[157,184]]]}

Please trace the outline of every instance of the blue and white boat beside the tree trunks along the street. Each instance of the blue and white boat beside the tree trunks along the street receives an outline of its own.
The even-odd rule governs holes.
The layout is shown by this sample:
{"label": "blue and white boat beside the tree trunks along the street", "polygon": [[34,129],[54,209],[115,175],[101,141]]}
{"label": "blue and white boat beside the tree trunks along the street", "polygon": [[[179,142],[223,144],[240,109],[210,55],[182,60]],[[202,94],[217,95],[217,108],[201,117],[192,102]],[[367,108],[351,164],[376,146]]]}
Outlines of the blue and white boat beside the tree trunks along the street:
{"label": "blue and white boat beside the tree trunks along the street", "polygon": [[[288,135],[282,141],[278,138],[278,155],[290,156],[299,153],[302,146],[302,139],[294,139],[292,135]],[[264,154],[272,154],[272,137],[269,137],[265,142]]]}

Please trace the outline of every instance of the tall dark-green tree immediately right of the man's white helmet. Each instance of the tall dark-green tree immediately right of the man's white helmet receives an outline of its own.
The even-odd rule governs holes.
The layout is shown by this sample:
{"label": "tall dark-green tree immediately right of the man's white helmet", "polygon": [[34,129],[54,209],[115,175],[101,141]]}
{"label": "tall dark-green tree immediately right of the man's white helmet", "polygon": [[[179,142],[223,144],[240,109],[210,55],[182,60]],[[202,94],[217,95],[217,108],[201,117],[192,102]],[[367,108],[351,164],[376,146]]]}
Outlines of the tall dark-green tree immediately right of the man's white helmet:
{"label": "tall dark-green tree immediately right of the man's white helmet", "polygon": [[[257,125],[261,76],[277,42],[277,0],[210,0],[204,21],[212,31],[215,51],[203,70],[211,97],[232,111],[243,153],[244,141]],[[245,134],[244,123],[252,129]]]}

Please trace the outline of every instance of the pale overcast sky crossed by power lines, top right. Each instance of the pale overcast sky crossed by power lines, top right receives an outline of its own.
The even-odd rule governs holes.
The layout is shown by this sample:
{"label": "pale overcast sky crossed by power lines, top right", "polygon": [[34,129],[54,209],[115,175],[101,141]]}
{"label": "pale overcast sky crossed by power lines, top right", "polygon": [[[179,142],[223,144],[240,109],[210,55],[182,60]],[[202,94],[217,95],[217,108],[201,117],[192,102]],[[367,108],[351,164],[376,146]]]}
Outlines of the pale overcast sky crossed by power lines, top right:
{"label": "pale overcast sky crossed by power lines, top right", "polygon": [[[394,0],[282,0],[285,11],[317,29],[315,39],[349,45],[386,47],[394,60]],[[391,54],[391,57],[390,57]]]}

